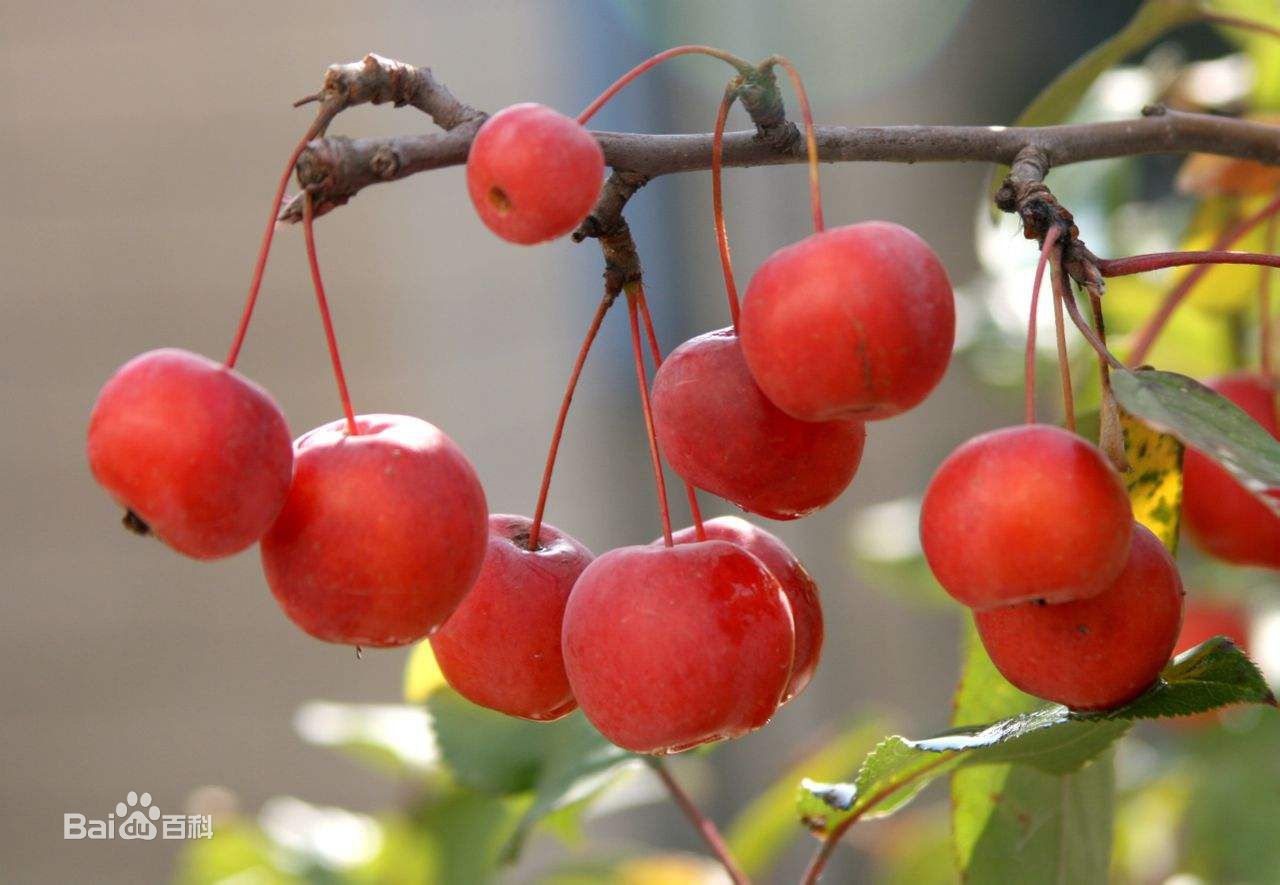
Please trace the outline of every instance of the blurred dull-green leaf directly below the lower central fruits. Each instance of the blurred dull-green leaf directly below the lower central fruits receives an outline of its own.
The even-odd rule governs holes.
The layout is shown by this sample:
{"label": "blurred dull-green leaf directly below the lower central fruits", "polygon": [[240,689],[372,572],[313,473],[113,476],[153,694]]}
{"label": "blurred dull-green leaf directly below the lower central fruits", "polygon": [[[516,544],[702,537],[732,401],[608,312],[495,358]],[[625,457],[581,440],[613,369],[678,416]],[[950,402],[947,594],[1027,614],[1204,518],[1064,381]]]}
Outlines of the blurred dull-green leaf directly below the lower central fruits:
{"label": "blurred dull-green leaf directly below the lower central fruits", "polygon": [[502,848],[504,861],[518,856],[547,815],[596,795],[621,766],[637,759],[605,740],[581,712],[530,722],[477,707],[452,689],[434,692],[426,708],[440,756],[458,783],[490,794],[532,795]]}

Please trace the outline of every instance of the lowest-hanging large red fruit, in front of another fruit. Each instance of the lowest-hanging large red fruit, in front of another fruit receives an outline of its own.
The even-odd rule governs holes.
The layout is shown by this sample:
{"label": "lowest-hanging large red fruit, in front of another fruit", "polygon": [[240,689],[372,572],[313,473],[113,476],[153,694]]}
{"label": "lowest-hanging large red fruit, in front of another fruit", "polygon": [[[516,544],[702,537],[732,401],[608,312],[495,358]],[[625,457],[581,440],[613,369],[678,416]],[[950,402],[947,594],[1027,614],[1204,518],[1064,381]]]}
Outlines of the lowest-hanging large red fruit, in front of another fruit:
{"label": "lowest-hanging large red fruit, in front of another fruit", "polygon": [[768,722],[795,629],[778,580],[736,544],[621,547],[577,579],[563,648],[591,724],[620,747],[663,754]]}

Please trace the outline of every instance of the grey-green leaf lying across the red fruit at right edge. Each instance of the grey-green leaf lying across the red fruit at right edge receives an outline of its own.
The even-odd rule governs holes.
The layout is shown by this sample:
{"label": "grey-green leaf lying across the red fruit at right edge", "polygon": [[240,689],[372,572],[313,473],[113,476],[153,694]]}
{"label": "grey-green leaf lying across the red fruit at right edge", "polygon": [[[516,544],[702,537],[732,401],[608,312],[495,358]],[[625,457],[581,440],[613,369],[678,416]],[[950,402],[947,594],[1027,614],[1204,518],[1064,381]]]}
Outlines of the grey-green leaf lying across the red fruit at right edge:
{"label": "grey-green leaf lying across the red fruit at right edge", "polygon": [[1111,386],[1125,411],[1213,459],[1280,514],[1280,501],[1263,494],[1280,487],[1280,442],[1235,403],[1185,375],[1155,369],[1112,371]]}

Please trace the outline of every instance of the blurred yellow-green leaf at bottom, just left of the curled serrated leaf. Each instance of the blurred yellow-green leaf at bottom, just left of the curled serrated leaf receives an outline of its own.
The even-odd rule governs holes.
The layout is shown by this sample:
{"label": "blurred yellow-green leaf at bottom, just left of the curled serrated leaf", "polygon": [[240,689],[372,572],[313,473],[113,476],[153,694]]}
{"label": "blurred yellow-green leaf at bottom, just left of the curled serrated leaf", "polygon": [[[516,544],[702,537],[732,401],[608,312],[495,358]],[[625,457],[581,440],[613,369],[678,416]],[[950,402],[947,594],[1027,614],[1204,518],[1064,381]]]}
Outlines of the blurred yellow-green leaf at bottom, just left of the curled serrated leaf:
{"label": "blurred yellow-green leaf at bottom, just left of the curled serrated leaf", "polygon": [[819,780],[849,777],[884,734],[879,721],[860,722],[806,754],[758,795],[726,830],[730,850],[748,876],[767,872],[797,835],[795,785],[805,776]]}

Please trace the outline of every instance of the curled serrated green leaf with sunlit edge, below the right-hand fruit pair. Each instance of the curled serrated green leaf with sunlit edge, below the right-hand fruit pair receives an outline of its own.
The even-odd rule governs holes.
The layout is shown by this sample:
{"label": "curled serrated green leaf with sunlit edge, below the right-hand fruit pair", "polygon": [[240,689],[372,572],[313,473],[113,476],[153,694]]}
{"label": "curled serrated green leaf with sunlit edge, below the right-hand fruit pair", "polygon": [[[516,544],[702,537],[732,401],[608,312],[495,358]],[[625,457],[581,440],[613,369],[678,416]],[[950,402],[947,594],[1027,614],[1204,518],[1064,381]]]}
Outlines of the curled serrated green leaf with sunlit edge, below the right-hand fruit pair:
{"label": "curled serrated green leaf with sunlit edge, below the right-hand fruit pair", "polygon": [[1128,731],[1133,720],[1185,716],[1230,703],[1275,699],[1240,649],[1226,639],[1211,639],[1165,667],[1149,692],[1105,713],[1075,713],[1050,704],[924,740],[886,738],[863,761],[854,783],[803,781],[797,809],[806,826],[826,835],[850,817],[892,813],[929,781],[957,767],[1018,762],[1046,774],[1074,774]]}

